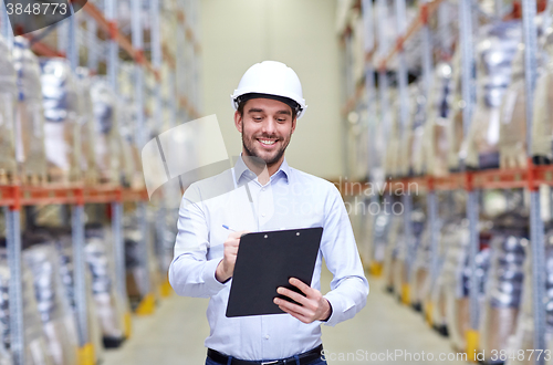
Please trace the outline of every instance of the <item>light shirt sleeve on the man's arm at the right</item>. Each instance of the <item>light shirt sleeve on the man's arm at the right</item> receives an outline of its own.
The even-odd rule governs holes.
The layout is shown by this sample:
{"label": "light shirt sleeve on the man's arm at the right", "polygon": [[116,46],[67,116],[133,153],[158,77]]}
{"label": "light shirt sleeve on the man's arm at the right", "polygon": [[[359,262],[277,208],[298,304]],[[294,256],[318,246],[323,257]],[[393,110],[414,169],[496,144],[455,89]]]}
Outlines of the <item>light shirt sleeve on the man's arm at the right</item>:
{"label": "light shirt sleeve on the man's arm at the right", "polygon": [[365,306],[368,282],[361,263],[349,217],[342,196],[334,186],[325,202],[321,249],[326,267],[334,275],[331,291],[324,295],[331,303],[332,314],[322,323],[335,326],[352,319]]}

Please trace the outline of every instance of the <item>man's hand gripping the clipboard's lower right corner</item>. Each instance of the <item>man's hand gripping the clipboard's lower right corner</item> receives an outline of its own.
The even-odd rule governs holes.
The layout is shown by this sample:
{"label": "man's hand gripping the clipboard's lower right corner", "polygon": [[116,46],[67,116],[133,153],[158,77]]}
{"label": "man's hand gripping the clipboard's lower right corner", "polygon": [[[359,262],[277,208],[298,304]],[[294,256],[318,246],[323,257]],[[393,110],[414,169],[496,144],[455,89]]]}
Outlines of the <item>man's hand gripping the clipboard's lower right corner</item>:
{"label": "man's hand gripping the clipboard's lower right corner", "polygon": [[309,286],[304,282],[295,278],[291,278],[290,283],[300,289],[306,296],[303,296],[302,294],[283,286],[276,289],[276,292],[294,300],[302,305],[298,305],[279,298],[275,298],[273,300],[274,304],[279,305],[282,311],[290,313],[292,316],[296,317],[303,323],[328,320],[332,314],[332,307],[328,301],[323,298],[323,294],[321,294],[319,290]]}

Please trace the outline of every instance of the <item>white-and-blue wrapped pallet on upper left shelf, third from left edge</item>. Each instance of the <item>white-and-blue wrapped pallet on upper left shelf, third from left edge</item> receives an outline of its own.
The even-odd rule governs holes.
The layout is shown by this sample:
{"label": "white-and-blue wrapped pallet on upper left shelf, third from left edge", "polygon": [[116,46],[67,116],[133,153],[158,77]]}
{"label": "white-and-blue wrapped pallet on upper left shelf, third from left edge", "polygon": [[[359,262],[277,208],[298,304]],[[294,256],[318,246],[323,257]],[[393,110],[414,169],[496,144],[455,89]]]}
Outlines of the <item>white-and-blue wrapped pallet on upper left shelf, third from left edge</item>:
{"label": "white-and-blue wrapped pallet on upper left shelf, third from left edge", "polygon": [[48,175],[59,182],[81,179],[79,91],[66,59],[40,60]]}

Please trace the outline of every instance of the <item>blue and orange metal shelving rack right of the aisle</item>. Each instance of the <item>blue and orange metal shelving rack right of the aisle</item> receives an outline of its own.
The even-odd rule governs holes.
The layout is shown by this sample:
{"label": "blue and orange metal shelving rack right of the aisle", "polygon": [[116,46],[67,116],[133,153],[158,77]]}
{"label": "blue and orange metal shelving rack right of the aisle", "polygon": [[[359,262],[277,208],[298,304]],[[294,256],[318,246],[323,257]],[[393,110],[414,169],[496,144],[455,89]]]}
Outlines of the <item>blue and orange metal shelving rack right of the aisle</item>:
{"label": "blue and orange metal shelving rack right of the aisle", "polygon": [[[430,33],[428,29],[428,19],[430,15],[439,11],[442,0],[425,1],[420,0],[418,6],[418,17],[406,27],[405,18],[405,0],[395,0],[396,17],[397,17],[397,29],[398,36],[395,44],[388,46],[386,41],[380,36],[378,44],[374,41],[365,42],[365,82],[357,83],[355,90],[351,93],[348,100],[343,107],[344,116],[352,111],[355,111],[357,106],[362,103],[363,92],[367,95],[367,109],[368,113],[374,113],[376,103],[376,85],[374,80],[375,69],[378,73],[378,90],[379,90],[379,102],[380,109],[386,111],[388,105],[388,82],[386,75],[386,67],[389,65],[394,58],[398,59],[397,67],[397,80],[398,80],[398,95],[399,95],[399,121],[403,133],[405,133],[406,126],[406,111],[408,111],[408,97],[407,97],[407,70],[405,67],[404,60],[404,45],[409,42],[414,36],[420,33],[422,43],[422,80],[424,88],[427,93],[430,88],[431,83],[431,42]],[[386,7],[385,1],[376,0],[373,3],[372,0],[354,1],[353,7],[362,10],[364,30],[367,39],[373,40],[373,33],[378,30],[377,33],[383,34],[382,27],[384,27],[383,17],[376,17],[377,24],[374,24],[374,9],[377,7],[377,11],[382,11],[382,7]],[[498,6],[498,4],[495,4]],[[427,191],[427,209],[428,209],[428,222],[430,227],[430,252],[431,252],[431,264],[430,264],[430,275],[432,280],[437,277],[438,267],[438,250],[437,250],[437,199],[436,191],[438,190],[455,190],[462,189],[467,191],[467,218],[469,221],[469,260],[471,269],[470,285],[471,288],[477,288],[477,268],[476,268],[476,255],[478,252],[478,217],[479,217],[479,205],[478,205],[478,190],[481,189],[512,189],[512,188],[525,188],[530,191],[530,239],[532,247],[532,300],[533,300],[533,322],[534,322],[534,350],[546,350],[545,346],[545,304],[543,302],[545,281],[545,248],[544,248],[544,223],[540,216],[540,196],[539,188],[541,185],[553,186],[553,167],[552,166],[536,166],[533,164],[531,155],[532,146],[532,117],[533,117],[533,92],[535,87],[536,80],[536,25],[534,22],[536,14],[536,2],[535,0],[521,0],[515,1],[515,6],[522,8],[522,27],[523,27],[523,42],[524,42],[524,77],[525,77],[525,93],[526,93],[526,154],[528,154],[528,168],[518,169],[492,169],[492,170],[478,170],[470,171],[462,169],[460,173],[450,174],[446,177],[434,177],[434,176],[422,176],[422,177],[406,177],[406,178],[394,178],[387,180],[385,184],[393,186],[408,186],[408,184],[417,184]],[[547,7],[551,7],[549,3]],[[378,9],[380,8],[380,9]],[[471,115],[474,106],[474,80],[473,80],[473,65],[474,65],[474,50],[473,50],[473,39],[472,39],[472,19],[473,19],[473,3],[470,0],[458,0],[459,8],[459,41],[461,51],[461,77],[462,77],[462,100],[465,101],[465,107],[462,109],[462,126],[463,134],[467,135],[469,131]],[[495,9],[498,11],[498,9]],[[347,36],[347,32],[344,33]],[[376,64],[375,67],[373,64]],[[351,82],[351,81],[349,81]],[[384,113],[380,113],[384,115]],[[371,114],[369,114],[371,115]],[[383,123],[389,123],[389,121],[384,121]],[[389,127],[388,127],[389,129]],[[375,128],[369,126],[367,133],[369,134],[369,145],[374,145],[375,142]],[[372,147],[369,147],[372,148]],[[369,154],[373,150],[369,149]],[[375,165],[369,156],[369,171]],[[369,173],[369,178],[374,178],[373,174]],[[357,187],[362,187],[357,185]],[[355,185],[351,187],[351,191],[355,189]],[[361,192],[361,191],[357,191]],[[409,208],[410,208],[410,197],[404,195],[405,204],[405,229],[406,236],[408,237],[408,223]],[[409,257],[409,255],[407,255]],[[408,263],[408,262],[407,262]],[[407,264],[408,267],[408,264]],[[404,302],[409,302],[409,289],[403,288],[403,300]],[[467,354],[468,358],[473,358],[476,351],[478,350],[479,333],[479,306],[478,306],[478,292],[470,291],[470,330],[467,333]],[[431,303],[430,303],[431,304]],[[544,357],[534,358],[535,364],[544,364]]]}

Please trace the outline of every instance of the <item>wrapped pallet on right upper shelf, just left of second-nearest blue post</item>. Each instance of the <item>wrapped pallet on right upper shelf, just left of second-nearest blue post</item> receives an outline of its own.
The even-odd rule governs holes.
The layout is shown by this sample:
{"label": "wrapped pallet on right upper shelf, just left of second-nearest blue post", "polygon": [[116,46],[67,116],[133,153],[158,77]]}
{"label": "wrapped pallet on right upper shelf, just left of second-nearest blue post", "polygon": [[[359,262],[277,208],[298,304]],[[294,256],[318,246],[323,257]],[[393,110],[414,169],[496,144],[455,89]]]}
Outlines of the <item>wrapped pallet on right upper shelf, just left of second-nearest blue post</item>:
{"label": "wrapped pallet on right upper shelf, just left of second-nearest blue post", "polygon": [[432,87],[426,105],[426,123],[422,137],[424,159],[427,174],[445,176],[448,174],[448,129],[451,93],[451,65],[439,63],[436,65]]}

